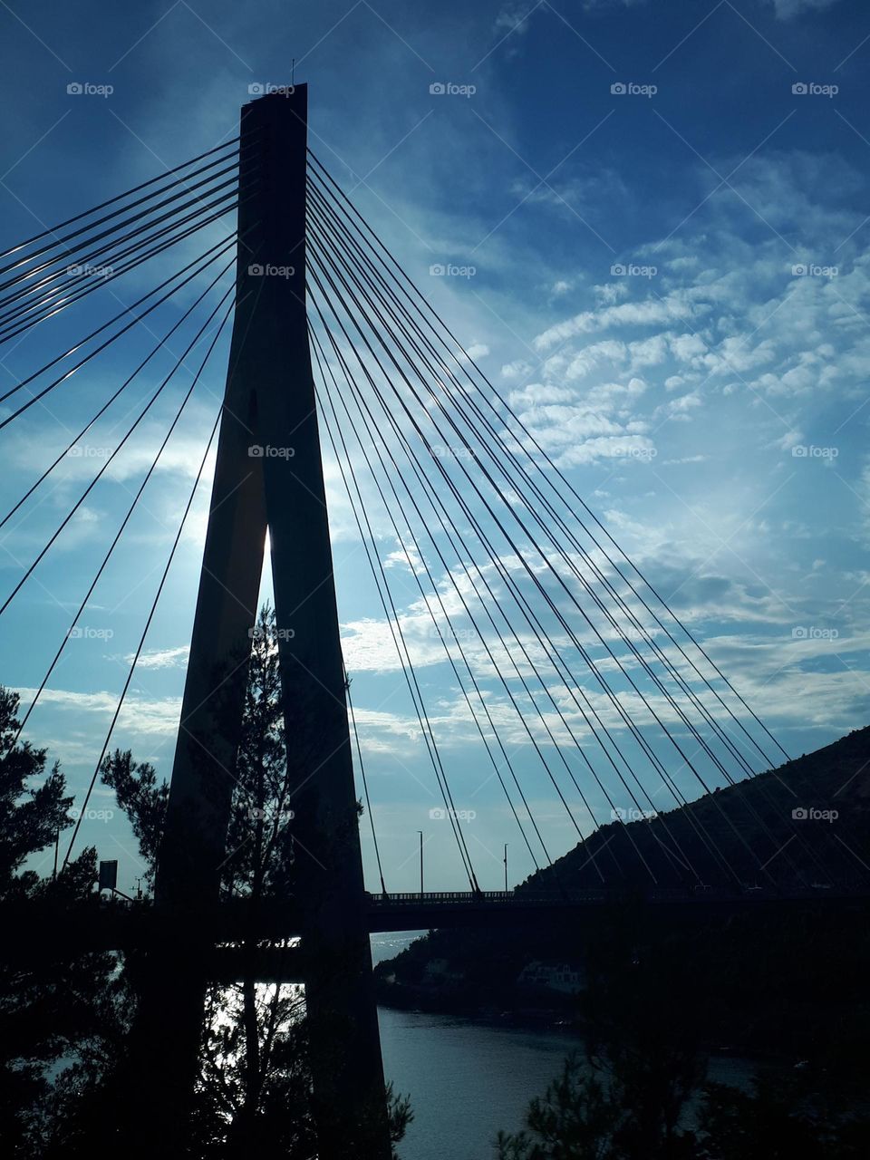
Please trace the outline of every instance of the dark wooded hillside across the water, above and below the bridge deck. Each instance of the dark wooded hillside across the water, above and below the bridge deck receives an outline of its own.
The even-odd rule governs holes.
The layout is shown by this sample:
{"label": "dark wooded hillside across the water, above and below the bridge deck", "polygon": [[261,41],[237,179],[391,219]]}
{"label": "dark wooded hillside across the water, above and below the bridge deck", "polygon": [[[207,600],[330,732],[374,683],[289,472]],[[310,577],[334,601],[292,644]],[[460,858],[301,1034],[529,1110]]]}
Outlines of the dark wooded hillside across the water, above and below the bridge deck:
{"label": "dark wooded hillside across the water, above and below the bridge deck", "polygon": [[[836,815],[792,817],[793,810],[811,809]],[[739,822],[741,836],[734,833]],[[718,855],[698,836],[702,824]],[[723,880],[718,856],[741,882],[773,886],[760,869],[768,862],[769,871],[777,867],[776,884],[806,884],[810,897],[774,912],[727,918],[713,908],[681,923],[632,899],[632,887],[650,878],[624,831],[661,885],[690,880],[665,853],[679,844],[702,880]],[[608,857],[611,849],[615,857]],[[870,728],[683,810],[604,827],[561,857],[556,873],[567,887],[600,885],[595,858],[608,883],[624,883],[629,897],[607,906],[594,927],[587,920],[578,929],[563,923],[430,931],[377,966],[379,1001],[582,1025],[585,1000],[577,988],[535,986],[530,977],[541,978],[541,967],[563,974],[567,969],[580,979],[618,977],[626,963],[644,962],[665,979],[682,980],[687,1001],[697,1006],[698,1034],[710,1045],[803,1058],[870,1037],[863,983],[870,972],[869,907],[862,897],[827,905],[836,887],[870,879]],[[519,889],[551,887],[551,873],[532,875]],[[853,970],[843,971],[846,962]]]}

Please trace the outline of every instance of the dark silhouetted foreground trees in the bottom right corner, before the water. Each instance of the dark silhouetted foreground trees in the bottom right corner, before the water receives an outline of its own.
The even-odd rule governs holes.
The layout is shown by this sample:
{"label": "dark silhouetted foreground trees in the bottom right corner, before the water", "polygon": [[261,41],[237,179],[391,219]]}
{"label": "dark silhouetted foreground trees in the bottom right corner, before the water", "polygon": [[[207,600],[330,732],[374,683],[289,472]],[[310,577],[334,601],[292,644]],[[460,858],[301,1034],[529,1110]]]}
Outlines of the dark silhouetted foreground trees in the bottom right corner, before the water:
{"label": "dark silhouetted foreground trees in the bottom right corner, before the water", "polygon": [[[867,1038],[759,1072],[749,1090],[706,1080],[705,1016],[722,998],[691,957],[638,956],[611,928],[578,1000],[585,1047],[496,1140],[499,1160],[849,1160],[870,1150]],[[793,1013],[802,1018],[804,1010]]]}

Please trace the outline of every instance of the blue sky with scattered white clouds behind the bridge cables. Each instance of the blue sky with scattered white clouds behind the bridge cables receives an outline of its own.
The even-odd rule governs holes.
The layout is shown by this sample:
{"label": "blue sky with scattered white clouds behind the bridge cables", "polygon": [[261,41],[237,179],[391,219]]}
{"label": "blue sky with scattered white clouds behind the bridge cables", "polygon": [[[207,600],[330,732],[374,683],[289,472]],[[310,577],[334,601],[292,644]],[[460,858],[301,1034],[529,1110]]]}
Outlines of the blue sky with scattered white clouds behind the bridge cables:
{"label": "blue sky with scattered white clouds behind the bridge cables", "polygon": [[[870,12],[861,0],[108,9],[32,0],[0,2],[0,28],[3,249],[231,138],[239,107],[266,86],[307,81],[314,153],[786,751],[810,752],[868,723]],[[201,248],[186,242],[174,261]],[[444,267],[454,273],[432,273]],[[111,283],[111,300],[94,296],[102,306],[6,343],[5,390],[88,320],[108,317],[100,310],[121,310],[154,285],[155,270]],[[78,795],[217,413],[226,334],[28,726]],[[0,430],[3,513],[153,341],[137,332],[51,406]],[[182,349],[179,341],[158,354],[136,399]],[[0,614],[0,682],[23,703],[173,399],[148,413]],[[93,454],[66,457],[0,530],[6,595],[93,477],[100,449],[114,445],[129,406],[92,432]],[[430,815],[440,799],[340,472],[328,452],[325,462],[342,640],[386,878],[414,889],[422,829],[433,887],[458,887],[462,868],[449,827]],[[113,747],[131,747],[167,777],[209,472],[113,734]],[[480,883],[502,883],[503,842],[519,880],[531,862],[481,773],[412,572],[389,527],[377,529],[457,809],[474,815],[463,825]],[[575,829],[530,766],[528,776],[549,844],[564,853]],[[100,786],[90,810],[81,841],[118,857],[129,886],[140,871],[124,819]],[[363,840],[374,885],[365,827]]]}

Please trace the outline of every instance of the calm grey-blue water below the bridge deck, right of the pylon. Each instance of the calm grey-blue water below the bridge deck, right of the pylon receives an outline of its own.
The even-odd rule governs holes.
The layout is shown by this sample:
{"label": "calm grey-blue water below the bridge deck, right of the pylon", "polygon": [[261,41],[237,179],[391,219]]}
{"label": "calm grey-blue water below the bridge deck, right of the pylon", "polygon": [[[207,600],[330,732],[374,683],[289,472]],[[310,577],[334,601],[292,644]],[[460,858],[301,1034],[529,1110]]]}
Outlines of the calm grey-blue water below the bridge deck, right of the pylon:
{"label": "calm grey-blue water below the bridge deck, right of the pylon", "polygon": [[[392,958],[422,933],[374,935],[372,958]],[[558,1029],[386,1007],[378,1020],[386,1078],[414,1109],[401,1160],[492,1160],[498,1131],[522,1128],[531,1097],[544,1093],[570,1051],[582,1047]],[[752,1072],[746,1060],[710,1060],[709,1076],[722,1083],[745,1087]]]}

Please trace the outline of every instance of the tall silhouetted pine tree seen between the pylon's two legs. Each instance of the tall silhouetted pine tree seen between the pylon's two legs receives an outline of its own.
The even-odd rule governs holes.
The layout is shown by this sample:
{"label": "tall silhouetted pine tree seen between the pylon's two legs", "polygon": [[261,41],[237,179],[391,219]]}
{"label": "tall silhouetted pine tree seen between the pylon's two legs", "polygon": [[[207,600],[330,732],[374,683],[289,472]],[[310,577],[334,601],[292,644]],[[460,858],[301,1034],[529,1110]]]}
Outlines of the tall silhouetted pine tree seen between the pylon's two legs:
{"label": "tall silhouetted pine tree seen between the pylon's two legs", "polygon": [[[293,761],[288,760],[275,612],[268,606],[252,636],[220,891],[226,900],[245,899],[255,925],[260,902],[293,892],[292,786],[304,754],[295,735]],[[168,786],[129,752],[108,757],[102,776],[130,818],[153,883]],[[252,938],[242,947],[240,981],[206,989],[193,1116],[197,1157],[316,1154],[304,996],[293,984],[256,981],[256,952],[263,948],[289,950],[287,942]],[[408,1101],[390,1092],[389,1116],[398,1141],[411,1119]]]}

